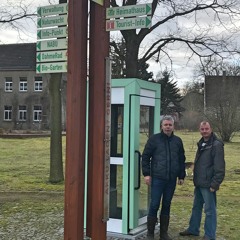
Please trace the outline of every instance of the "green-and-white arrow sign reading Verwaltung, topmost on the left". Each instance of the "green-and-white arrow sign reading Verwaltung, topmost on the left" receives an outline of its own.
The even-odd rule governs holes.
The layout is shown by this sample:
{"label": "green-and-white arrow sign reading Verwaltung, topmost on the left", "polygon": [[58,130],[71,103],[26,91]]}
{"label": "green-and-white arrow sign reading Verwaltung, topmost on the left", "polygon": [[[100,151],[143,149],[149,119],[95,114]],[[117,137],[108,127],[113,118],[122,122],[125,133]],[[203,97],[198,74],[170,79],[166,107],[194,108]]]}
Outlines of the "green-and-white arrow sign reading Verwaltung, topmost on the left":
{"label": "green-and-white arrow sign reading Verwaltung, topmost on the left", "polygon": [[68,4],[67,3],[48,5],[45,7],[37,8],[37,16],[38,17],[65,14],[67,12],[68,12]]}

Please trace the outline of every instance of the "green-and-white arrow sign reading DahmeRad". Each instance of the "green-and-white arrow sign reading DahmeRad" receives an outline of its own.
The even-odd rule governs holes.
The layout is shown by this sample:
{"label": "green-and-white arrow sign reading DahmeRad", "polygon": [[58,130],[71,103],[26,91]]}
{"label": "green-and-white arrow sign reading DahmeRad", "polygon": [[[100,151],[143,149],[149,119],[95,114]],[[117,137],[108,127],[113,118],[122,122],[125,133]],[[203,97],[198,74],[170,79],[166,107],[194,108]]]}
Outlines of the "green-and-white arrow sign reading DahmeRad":
{"label": "green-and-white arrow sign reading DahmeRad", "polygon": [[37,62],[67,61],[67,50],[37,52]]}

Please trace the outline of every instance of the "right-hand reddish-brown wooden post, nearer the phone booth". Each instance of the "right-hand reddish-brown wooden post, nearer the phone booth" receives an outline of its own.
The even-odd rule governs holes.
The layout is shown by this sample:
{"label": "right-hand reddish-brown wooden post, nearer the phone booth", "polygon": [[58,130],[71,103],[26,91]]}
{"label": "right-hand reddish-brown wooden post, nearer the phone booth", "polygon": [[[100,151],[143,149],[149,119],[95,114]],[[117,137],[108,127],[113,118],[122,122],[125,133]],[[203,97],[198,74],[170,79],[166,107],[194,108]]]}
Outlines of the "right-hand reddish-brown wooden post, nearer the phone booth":
{"label": "right-hand reddish-brown wooden post, nearer the phone booth", "polygon": [[90,2],[89,144],[86,235],[106,239],[104,221],[105,59],[109,55],[109,33],[105,30],[106,7]]}

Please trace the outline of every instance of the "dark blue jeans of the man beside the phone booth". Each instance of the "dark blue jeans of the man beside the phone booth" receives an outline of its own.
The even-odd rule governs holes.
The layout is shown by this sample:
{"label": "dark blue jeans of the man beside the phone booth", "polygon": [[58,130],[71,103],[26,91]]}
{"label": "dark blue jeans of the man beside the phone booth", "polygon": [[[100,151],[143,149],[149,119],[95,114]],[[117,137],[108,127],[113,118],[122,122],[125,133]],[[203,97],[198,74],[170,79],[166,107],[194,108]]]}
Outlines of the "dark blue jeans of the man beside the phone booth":
{"label": "dark blue jeans of the man beside the phone booth", "polygon": [[151,180],[151,202],[149,206],[148,216],[157,217],[157,212],[162,198],[162,207],[160,215],[169,216],[170,206],[173,194],[176,188],[176,179],[162,180],[152,178]]}

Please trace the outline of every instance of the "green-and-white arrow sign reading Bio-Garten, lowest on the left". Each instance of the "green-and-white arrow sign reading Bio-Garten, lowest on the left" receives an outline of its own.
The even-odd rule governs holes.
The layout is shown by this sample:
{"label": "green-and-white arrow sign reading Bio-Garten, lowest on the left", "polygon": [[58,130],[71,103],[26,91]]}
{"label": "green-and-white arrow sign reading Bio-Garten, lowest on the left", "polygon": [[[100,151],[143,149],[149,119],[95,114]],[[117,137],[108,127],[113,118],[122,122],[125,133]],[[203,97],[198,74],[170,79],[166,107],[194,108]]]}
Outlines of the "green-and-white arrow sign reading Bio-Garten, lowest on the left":
{"label": "green-and-white arrow sign reading Bio-Garten, lowest on the left", "polygon": [[57,73],[67,72],[67,62],[39,63],[36,66],[36,73]]}

